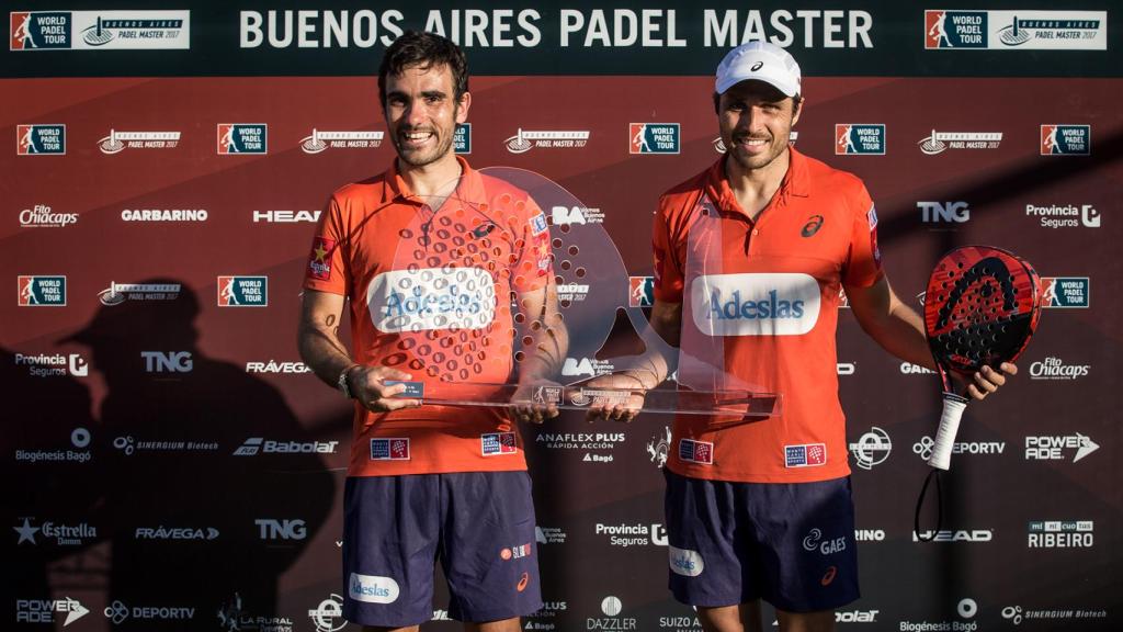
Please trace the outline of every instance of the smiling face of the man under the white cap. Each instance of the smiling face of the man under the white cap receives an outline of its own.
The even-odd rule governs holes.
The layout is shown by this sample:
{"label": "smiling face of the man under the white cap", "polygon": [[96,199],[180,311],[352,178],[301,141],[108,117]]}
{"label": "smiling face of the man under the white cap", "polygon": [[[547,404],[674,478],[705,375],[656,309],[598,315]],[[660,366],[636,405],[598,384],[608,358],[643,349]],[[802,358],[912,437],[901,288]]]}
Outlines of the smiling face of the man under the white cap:
{"label": "smiling face of the man under the white cap", "polygon": [[761,81],[742,81],[718,101],[718,126],[729,156],[751,171],[764,169],[787,151],[801,107]]}

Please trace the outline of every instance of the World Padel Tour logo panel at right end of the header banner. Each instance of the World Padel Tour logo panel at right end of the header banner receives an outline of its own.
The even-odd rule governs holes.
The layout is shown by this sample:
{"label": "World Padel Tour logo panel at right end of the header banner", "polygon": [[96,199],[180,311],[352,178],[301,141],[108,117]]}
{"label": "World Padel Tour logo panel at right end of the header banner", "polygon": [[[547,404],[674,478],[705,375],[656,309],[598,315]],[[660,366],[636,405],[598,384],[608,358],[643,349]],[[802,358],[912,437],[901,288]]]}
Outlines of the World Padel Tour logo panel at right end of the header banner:
{"label": "World Padel Tour logo panel at right end of the header banner", "polygon": [[924,48],[1107,49],[1106,11],[924,11]]}

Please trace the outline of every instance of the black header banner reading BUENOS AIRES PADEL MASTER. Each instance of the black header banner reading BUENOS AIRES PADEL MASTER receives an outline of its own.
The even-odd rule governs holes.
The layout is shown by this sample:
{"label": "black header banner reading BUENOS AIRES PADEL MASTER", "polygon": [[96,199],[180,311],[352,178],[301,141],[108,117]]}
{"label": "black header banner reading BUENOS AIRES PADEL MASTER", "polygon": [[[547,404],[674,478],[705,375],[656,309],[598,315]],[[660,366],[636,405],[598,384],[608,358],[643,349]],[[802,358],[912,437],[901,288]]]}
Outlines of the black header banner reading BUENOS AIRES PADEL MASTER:
{"label": "black header banner reading BUENOS AIRES PADEL MASTER", "polygon": [[365,75],[410,29],[453,38],[491,75],[704,75],[750,39],[788,48],[807,75],[1123,73],[1111,54],[1123,11],[1108,0],[60,4],[9,11],[0,76]]}

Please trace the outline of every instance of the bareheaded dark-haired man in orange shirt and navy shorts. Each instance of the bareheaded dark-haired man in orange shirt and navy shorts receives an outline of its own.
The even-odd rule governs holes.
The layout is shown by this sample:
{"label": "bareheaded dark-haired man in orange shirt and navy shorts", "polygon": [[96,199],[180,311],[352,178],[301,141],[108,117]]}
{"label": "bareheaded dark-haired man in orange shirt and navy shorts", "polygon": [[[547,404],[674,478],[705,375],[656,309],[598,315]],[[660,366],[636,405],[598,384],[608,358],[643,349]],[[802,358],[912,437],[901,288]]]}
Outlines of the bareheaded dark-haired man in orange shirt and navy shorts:
{"label": "bareheaded dark-haired man in orange shirt and navy shorts", "polygon": [[[472,102],[467,80],[463,52],[444,37],[411,31],[386,49],[378,91],[398,157],[331,196],[305,271],[301,356],[355,406],[344,615],[374,630],[429,621],[436,559],[449,614],[467,630],[513,632],[541,607],[517,427],[495,409],[417,399],[512,376],[530,385],[565,358],[564,331],[549,326],[557,295],[546,217],[453,152]],[[520,323],[547,324],[520,336],[526,349],[512,298]],[[339,338],[348,299],[353,352]],[[481,388],[473,395],[487,397]],[[557,414],[514,410],[539,423]]]}

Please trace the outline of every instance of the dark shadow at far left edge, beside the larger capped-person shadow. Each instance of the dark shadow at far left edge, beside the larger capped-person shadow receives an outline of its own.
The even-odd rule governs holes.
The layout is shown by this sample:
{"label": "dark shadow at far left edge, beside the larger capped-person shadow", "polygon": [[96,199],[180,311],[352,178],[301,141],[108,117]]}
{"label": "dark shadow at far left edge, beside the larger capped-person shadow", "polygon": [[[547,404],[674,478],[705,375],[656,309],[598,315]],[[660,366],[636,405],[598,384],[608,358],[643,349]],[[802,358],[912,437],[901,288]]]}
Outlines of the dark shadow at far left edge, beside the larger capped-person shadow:
{"label": "dark shadow at far left edge, beside the larger capped-person shadow", "polygon": [[15,529],[4,541],[3,594],[8,603],[17,602],[16,622],[27,629],[42,624],[31,624],[38,613],[19,606],[19,599],[63,598],[70,590],[104,586],[103,560],[90,550],[94,538],[56,535],[57,527],[81,531],[99,494],[90,476],[102,455],[90,392],[72,377],[83,370],[76,355],[0,349],[0,381],[13,413],[0,439],[4,524]]}

